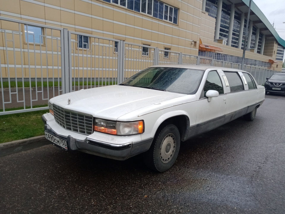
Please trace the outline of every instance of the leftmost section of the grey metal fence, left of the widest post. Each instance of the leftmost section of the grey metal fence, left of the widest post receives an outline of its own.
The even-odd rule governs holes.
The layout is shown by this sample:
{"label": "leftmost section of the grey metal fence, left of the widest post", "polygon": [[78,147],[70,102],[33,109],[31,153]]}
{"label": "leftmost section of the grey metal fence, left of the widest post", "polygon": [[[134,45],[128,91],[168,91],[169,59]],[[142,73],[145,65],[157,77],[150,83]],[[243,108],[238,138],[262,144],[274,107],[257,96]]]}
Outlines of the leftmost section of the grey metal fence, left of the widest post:
{"label": "leftmost section of the grey metal fence, left of the widest post", "polygon": [[[37,105],[47,104],[51,97],[64,93],[61,87],[64,85],[61,83],[63,29],[6,17],[0,19],[0,115],[34,111]],[[9,26],[9,30],[3,26]],[[45,33],[36,37],[29,26],[44,29]],[[6,111],[19,107],[23,109]],[[47,108],[37,108],[41,109]]]}

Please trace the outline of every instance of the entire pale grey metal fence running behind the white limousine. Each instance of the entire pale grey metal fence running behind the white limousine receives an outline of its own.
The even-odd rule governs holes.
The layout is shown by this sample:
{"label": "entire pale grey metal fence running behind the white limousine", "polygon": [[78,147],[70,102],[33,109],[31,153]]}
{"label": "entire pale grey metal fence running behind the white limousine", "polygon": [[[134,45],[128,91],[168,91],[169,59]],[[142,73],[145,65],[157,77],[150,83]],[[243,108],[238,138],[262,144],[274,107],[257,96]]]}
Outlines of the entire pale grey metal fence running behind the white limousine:
{"label": "entire pale grey metal fence running behind the white limousine", "polygon": [[[200,64],[240,69],[241,64],[128,43],[1,17],[0,115],[47,109],[50,98],[118,84],[152,65]],[[8,29],[5,29],[5,26]],[[38,37],[29,27],[41,29]],[[274,73],[247,66],[258,84]]]}

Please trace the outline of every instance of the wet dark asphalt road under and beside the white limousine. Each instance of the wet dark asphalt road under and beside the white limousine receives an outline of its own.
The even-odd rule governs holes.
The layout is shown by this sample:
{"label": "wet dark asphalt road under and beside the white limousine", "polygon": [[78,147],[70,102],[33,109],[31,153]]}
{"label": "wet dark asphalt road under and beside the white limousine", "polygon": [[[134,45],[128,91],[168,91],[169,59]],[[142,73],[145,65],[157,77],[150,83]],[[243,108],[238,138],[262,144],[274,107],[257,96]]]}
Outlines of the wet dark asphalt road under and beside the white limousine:
{"label": "wet dark asphalt road under and beside the white limousine", "polygon": [[285,213],[285,96],[183,143],[164,173],[47,145],[0,158],[0,213]]}

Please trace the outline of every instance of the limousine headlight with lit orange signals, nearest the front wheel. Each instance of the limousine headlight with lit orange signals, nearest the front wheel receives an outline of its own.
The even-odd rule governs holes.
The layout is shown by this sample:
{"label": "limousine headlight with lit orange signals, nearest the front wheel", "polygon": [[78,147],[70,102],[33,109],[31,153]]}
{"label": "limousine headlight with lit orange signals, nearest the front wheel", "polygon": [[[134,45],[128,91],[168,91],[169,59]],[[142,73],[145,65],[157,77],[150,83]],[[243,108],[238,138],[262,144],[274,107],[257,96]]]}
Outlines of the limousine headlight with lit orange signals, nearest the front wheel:
{"label": "limousine headlight with lit orange signals, nearest the front wheel", "polygon": [[115,122],[103,119],[94,119],[94,131],[113,135],[135,135],[143,133],[143,121]]}

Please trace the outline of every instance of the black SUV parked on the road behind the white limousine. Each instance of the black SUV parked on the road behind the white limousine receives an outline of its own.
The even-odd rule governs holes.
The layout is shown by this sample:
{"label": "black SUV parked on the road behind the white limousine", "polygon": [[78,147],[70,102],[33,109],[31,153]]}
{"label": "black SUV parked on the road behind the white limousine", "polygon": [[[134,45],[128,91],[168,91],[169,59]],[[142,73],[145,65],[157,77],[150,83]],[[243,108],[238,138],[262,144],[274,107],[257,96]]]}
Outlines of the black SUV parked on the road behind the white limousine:
{"label": "black SUV parked on the road behind the white limousine", "polygon": [[270,78],[266,78],[264,87],[265,94],[267,92],[285,94],[285,73],[275,73]]}

